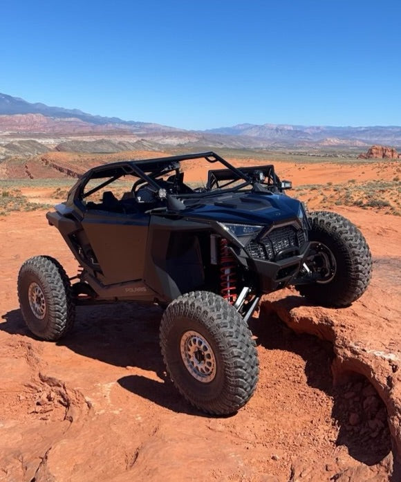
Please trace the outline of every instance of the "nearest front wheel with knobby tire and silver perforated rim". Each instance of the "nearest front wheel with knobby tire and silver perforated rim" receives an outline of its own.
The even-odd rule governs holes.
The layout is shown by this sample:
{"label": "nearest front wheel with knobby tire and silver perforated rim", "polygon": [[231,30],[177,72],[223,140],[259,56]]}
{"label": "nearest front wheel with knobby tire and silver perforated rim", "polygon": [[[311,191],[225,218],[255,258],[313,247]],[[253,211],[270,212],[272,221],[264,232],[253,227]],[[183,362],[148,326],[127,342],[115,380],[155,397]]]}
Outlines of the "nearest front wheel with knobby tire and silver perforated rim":
{"label": "nearest front wheel with knobby tire and silver perforated rim", "polygon": [[175,299],[162,316],[160,346],[180,393],[209,414],[232,414],[257,385],[252,333],[236,309],[205,291]]}

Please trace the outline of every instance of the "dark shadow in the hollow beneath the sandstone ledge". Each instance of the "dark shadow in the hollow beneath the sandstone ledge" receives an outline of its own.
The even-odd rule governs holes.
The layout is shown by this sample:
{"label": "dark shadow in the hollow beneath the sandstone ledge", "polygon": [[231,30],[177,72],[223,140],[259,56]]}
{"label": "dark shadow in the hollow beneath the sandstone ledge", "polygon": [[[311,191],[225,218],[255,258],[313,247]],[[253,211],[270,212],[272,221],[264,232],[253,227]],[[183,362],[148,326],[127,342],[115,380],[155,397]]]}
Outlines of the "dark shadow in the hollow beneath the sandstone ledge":
{"label": "dark shadow in the hollow beneath the sandstone ledge", "polygon": [[[291,307],[301,306],[301,297],[291,298]],[[333,346],[314,335],[297,335],[274,313],[261,311],[250,320],[257,344],[265,349],[297,353],[306,362],[308,385],[333,398],[333,423],[339,427],[336,445],[345,445],[348,454],[366,465],[380,463],[391,452],[391,435],[386,423],[386,407],[373,385],[363,376],[352,376],[345,384],[333,387],[331,363]]]}

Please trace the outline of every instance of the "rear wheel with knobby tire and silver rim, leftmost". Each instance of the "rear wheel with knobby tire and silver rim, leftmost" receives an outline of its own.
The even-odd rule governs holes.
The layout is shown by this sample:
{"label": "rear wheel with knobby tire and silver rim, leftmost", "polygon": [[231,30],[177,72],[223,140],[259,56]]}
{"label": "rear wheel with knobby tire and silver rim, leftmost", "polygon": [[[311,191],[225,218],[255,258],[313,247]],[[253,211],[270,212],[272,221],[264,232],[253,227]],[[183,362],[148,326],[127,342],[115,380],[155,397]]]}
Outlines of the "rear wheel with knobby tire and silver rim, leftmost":
{"label": "rear wheel with knobby tire and silver rim, leftmost", "polygon": [[62,265],[48,256],[35,256],[21,266],[18,298],[26,325],[43,340],[59,340],[73,326],[75,304]]}

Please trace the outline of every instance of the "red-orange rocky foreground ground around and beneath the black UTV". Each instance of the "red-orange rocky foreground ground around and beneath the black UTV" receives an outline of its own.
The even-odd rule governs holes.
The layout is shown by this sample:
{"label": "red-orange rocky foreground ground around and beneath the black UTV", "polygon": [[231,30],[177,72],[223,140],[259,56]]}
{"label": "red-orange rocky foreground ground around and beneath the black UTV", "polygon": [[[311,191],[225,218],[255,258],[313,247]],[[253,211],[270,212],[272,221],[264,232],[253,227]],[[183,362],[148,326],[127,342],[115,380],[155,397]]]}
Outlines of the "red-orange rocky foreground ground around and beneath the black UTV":
{"label": "red-orange rocky foreground ground around and beneath the black UTV", "polygon": [[[0,480],[399,482],[401,218],[338,210],[371,245],[371,286],[344,310],[307,306],[290,290],[266,297],[250,322],[257,391],[227,418],[192,409],[167,379],[156,306],[78,308],[62,342],[32,337],[17,302],[19,266],[36,254],[56,257],[71,276],[77,265],[43,211],[0,218]],[[280,299],[304,310],[320,339],[263,308]],[[341,336],[324,341],[328,317]],[[334,386],[336,344],[351,342],[373,353],[370,372]],[[391,355],[389,393],[377,390],[376,352]]]}

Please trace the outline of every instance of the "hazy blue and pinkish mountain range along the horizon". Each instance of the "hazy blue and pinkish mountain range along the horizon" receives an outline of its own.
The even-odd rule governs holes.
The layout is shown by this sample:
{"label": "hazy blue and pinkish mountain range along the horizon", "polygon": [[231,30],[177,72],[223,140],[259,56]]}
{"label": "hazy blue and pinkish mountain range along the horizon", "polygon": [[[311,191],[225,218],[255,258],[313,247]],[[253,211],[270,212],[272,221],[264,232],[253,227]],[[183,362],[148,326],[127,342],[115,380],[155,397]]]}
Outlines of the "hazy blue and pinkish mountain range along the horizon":
{"label": "hazy blue and pinkish mountain range along the horizon", "polygon": [[155,145],[191,147],[274,148],[366,147],[372,144],[401,147],[401,127],[330,127],[281,124],[238,124],[232,127],[186,131],[151,122],[125,121],[91,115],[78,109],[31,104],[0,93],[0,134],[132,134],[134,140]]}

